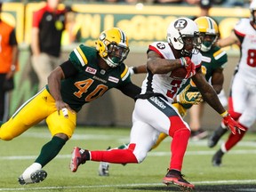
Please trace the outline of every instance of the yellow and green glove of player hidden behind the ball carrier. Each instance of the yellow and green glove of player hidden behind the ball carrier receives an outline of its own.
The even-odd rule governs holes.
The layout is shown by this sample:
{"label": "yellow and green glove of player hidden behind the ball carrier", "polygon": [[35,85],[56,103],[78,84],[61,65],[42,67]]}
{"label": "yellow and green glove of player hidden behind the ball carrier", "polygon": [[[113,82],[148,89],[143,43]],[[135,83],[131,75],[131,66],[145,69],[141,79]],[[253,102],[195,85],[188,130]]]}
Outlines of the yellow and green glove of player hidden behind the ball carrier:
{"label": "yellow and green glove of player hidden behind the ball carrier", "polygon": [[197,105],[200,102],[204,101],[203,97],[200,92],[188,92],[188,89],[190,88],[190,84],[186,86],[180,94],[177,95],[176,99],[177,102],[181,104],[191,104],[191,105]]}

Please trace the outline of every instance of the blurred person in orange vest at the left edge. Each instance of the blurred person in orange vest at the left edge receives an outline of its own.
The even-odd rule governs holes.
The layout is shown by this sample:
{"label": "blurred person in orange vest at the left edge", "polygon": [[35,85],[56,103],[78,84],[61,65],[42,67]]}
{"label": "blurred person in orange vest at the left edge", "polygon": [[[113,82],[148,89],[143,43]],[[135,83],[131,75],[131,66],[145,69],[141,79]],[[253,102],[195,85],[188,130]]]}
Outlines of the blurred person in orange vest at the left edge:
{"label": "blurred person in orange vest at the left edge", "polygon": [[[2,4],[0,2],[0,13]],[[6,121],[9,114],[8,93],[14,88],[13,76],[17,64],[18,44],[15,28],[0,17],[0,121]]]}

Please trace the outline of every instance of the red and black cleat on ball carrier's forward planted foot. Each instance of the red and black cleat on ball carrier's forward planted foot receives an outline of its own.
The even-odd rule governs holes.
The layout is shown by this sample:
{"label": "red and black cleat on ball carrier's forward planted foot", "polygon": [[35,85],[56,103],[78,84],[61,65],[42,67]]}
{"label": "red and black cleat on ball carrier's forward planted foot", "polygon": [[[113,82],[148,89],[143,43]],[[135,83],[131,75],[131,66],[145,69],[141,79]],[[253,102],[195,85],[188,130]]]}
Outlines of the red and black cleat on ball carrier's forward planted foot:
{"label": "red and black cleat on ball carrier's forward planted foot", "polygon": [[169,170],[163,179],[165,185],[178,185],[182,191],[191,191],[195,186],[183,179],[184,175],[177,170]]}

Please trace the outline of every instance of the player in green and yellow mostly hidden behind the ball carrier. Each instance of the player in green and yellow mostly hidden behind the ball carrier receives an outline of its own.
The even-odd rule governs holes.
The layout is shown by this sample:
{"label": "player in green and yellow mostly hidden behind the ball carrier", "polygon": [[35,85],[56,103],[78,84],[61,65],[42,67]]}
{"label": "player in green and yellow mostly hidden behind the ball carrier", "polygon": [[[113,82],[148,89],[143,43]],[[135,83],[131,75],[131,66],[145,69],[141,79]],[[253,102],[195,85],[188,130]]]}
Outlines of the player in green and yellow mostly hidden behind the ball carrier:
{"label": "player in green and yellow mostly hidden behind the ball carrier", "polygon": [[[202,36],[202,46],[200,48],[200,52],[203,55],[201,70],[206,80],[212,84],[213,89],[218,94],[223,88],[223,68],[225,68],[228,62],[228,55],[224,50],[221,50],[220,47],[215,44],[220,35],[217,23],[212,20],[212,18],[206,16],[197,18],[195,22],[199,28],[200,35]],[[145,65],[130,67],[129,69],[131,75],[146,73],[147,71]],[[196,95],[197,92],[198,89],[196,88],[196,84],[193,83],[192,79],[188,79],[186,84],[182,85],[178,96],[174,98],[174,103],[172,104],[178,109],[180,116],[184,117],[187,110],[190,110],[192,106],[202,104],[202,102],[200,102],[201,98]],[[188,98],[190,100],[188,100]],[[168,135],[164,132],[160,133],[159,138],[153,148],[156,148],[167,136]],[[118,148],[127,148],[128,145],[129,144],[124,144]],[[109,164],[107,162],[100,162],[99,175],[108,176],[108,168]]]}

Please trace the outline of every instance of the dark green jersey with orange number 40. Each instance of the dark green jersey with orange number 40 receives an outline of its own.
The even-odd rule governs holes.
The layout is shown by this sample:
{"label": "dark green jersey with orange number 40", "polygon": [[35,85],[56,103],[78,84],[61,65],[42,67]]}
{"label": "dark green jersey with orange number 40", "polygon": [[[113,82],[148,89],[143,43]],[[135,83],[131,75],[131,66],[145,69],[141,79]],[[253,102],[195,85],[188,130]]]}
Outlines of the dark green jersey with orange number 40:
{"label": "dark green jersey with orange number 40", "polygon": [[[95,48],[84,44],[69,54],[69,60],[78,72],[75,76],[61,80],[60,93],[62,100],[76,112],[109,89],[131,83],[128,67],[124,63],[105,70],[98,66],[98,55]],[[46,88],[49,91],[48,86]]]}

